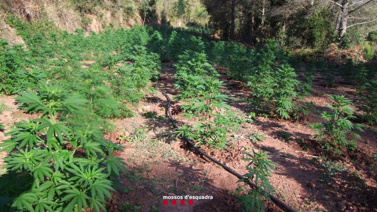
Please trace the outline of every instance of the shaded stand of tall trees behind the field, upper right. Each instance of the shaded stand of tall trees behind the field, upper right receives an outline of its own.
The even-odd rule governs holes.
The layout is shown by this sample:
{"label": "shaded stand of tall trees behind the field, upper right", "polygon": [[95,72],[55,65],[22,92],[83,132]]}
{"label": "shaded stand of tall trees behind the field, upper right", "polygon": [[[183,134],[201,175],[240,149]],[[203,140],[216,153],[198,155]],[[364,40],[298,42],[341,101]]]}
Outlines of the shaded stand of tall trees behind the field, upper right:
{"label": "shaded stand of tall trees behind the field, upper right", "polygon": [[223,39],[237,36],[251,44],[279,37],[287,45],[326,48],[338,38],[345,46],[343,40],[357,43],[360,33],[377,26],[377,0],[202,1]]}

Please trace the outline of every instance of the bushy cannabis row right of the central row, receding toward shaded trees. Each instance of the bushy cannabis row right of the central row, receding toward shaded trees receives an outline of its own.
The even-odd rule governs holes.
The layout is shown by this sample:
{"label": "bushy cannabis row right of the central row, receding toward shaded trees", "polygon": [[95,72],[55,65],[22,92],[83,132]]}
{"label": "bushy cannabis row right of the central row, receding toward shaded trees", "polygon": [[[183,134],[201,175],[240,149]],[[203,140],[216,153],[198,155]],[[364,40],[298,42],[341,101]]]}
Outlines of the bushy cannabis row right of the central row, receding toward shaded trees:
{"label": "bushy cannabis row right of the central row, receding toward shaded trees", "polygon": [[296,111],[296,103],[310,95],[313,88],[310,82],[301,83],[297,80],[294,69],[278,54],[276,41],[266,40],[266,43],[267,46],[258,51],[232,43],[223,47],[233,49],[230,51],[232,53],[221,53],[228,54],[229,75],[242,84],[248,84],[252,91],[251,104],[259,114],[277,114],[285,119],[292,116],[298,118],[303,111]]}

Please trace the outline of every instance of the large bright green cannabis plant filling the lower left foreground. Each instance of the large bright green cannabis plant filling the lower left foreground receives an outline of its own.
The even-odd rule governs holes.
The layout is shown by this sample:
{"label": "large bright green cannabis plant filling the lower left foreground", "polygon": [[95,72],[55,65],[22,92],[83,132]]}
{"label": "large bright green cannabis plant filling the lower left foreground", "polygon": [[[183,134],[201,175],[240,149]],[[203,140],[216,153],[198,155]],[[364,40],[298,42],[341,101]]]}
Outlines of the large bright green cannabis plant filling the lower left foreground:
{"label": "large bright green cannabis plant filling the lower left foreground", "polygon": [[104,139],[87,100],[60,84],[41,84],[16,99],[40,117],[15,124],[0,144],[10,153],[0,178],[2,210],[106,211],[125,163],[112,154],[121,146]]}

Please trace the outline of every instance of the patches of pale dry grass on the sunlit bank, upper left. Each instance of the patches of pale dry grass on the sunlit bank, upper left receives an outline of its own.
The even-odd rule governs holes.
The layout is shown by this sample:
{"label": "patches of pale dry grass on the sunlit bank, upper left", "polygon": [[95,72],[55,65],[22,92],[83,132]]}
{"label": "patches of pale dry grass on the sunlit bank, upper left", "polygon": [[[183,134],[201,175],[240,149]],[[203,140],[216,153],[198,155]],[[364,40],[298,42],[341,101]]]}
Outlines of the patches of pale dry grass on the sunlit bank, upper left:
{"label": "patches of pale dry grass on the sunlit bank, upper left", "polygon": [[[92,23],[87,31],[100,32],[104,27],[113,24],[115,28],[133,26],[141,24],[141,17],[136,12],[134,18],[124,20],[123,13],[114,7],[110,0],[103,1],[103,7],[97,8],[98,13],[87,14],[92,18]],[[15,34],[15,30],[4,22],[6,14],[13,14],[27,22],[50,20],[55,25],[68,32],[74,32],[77,28],[82,28],[81,17],[74,6],[68,0],[0,0],[0,37],[12,43],[23,43],[20,36]],[[29,14],[29,15],[28,15]],[[31,14],[31,15],[30,15]]]}

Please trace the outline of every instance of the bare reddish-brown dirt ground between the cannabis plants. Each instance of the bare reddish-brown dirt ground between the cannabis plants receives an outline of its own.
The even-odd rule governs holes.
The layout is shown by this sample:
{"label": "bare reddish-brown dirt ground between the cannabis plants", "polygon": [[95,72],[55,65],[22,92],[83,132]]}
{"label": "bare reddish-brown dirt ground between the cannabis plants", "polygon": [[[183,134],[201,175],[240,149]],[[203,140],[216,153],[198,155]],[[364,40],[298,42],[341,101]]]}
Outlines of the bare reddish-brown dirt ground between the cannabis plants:
{"label": "bare reddish-brown dirt ground between the cannabis plants", "polygon": [[[178,92],[173,86],[172,64],[164,63],[163,70],[158,81],[159,90],[174,97]],[[247,117],[251,109],[246,99],[251,92],[221,73],[228,87],[224,92],[232,98],[231,109],[239,116]],[[352,100],[357,98],[352,86],[339,84],[336,88],[325,88],[322,84],[323,80],[316,77],[313,96],[306,100],[313,102],[318,111],[326,109],[326,94],[344,94]],[[0,122],[6,127],[30,116],[17,110],[11,97],[1,97],[0,102],[2,100],[12,108],[0,114]],[[178,126],[189,123],[179,110],[181,104],[172,102]],[[237,183],[238,179],[221,167],[193,152],[182,139],[175,138],[166,106],[166,97],[156,91],[139,103],[135,117],[114,120],[117,129],[107,138],[125,146],[124,152],[117,155],[128,164],[128,171],[119,178],[126,190],[114,192],[107,209],[132,211],[133,207],[139,206],[139,211],[153,208],[166,212],[241,211],[232,193],[239,187],[247,187]],[[270,179],[276,188],[274,195],[297,211],[377,211],[376,169],[371,168],[377,166],[371,156],[377,153],[377,131],[367,128],[360,133],[362,140],[357,141],[356,152],[334,157],[320,149],[320,144],[313,140],[313,130],[307,123],[317,121],[322,120],[314,113],[300,121],[259,117],[254,123],[242,124],[239,132],[233,133],[228,139],[231,145],[227,150],[211,150],[210,154],[237,172],[246,173],[247,163],[241,160],[245,157],[241,151],[251,152],[251,149],[259,148],[269,151],[271,160],[278,164]],[[143,141],[131,142],[137,129],[144,129]],[[268,138],[253,143],[249,137],[256,132]],[[287,132],[290,137],[285,140],[282,132]],[[0,132],[0,140],[3,139],[5,137]],[[320,159],[313,160],[313,156]],[[343,171],[336,172],[328,182],[320,181],[325,171],[320,165],[323,156],[340,161],[340,166],[344,166]],[[308,183],[315,184],[315,188],[311,189]],[[180,206],[179,203],[164,206],[162,197],[166,195],[211,195],[213,200],[195,200],[193,206]],[[267,202],[267,210],[281,211],[270,202]]]}

